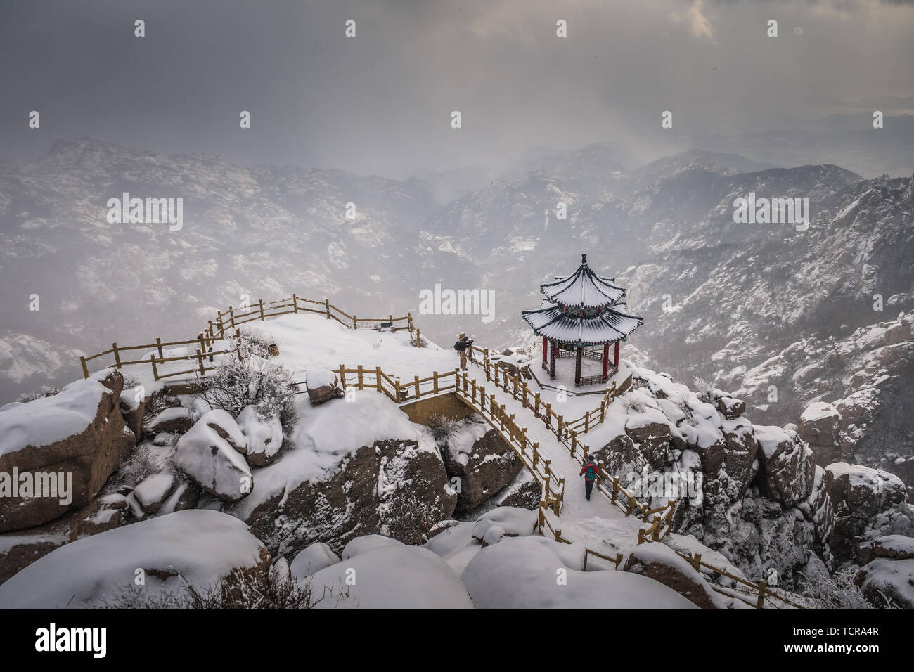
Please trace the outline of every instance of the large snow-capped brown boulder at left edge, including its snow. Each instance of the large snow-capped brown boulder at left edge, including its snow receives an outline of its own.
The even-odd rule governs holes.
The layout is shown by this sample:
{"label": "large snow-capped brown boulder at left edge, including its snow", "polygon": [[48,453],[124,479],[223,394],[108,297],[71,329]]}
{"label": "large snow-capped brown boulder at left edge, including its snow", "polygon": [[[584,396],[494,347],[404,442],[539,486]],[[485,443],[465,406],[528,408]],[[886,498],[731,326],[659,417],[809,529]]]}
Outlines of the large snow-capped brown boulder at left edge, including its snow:
{"label": "large snow-capped brown boulder at left edge, including its snow", "polygon": [[136,443],[120,411],[121,373],[0,411],[0,532],[86,507]]}

